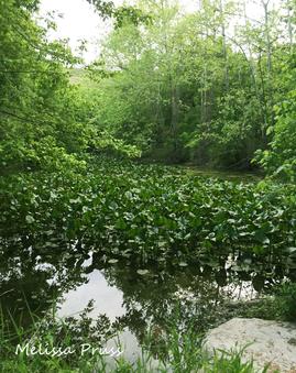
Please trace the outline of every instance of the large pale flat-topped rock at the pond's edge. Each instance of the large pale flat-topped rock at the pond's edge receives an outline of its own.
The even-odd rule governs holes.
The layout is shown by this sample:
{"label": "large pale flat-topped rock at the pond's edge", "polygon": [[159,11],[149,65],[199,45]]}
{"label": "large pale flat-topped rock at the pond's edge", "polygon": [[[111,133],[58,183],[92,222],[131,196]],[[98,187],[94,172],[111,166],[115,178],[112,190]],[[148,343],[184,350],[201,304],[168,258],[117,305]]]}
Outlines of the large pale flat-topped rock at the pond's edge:
{"label": "large pale flat-topped rock at the pond's edge", "polygon": [[267,372],[296,373],[296,325],[261,319],[234,318],[211,329],[205,349],[230,351],[241,349],[243,361],[253,359],[256,369],[270,363]]}

